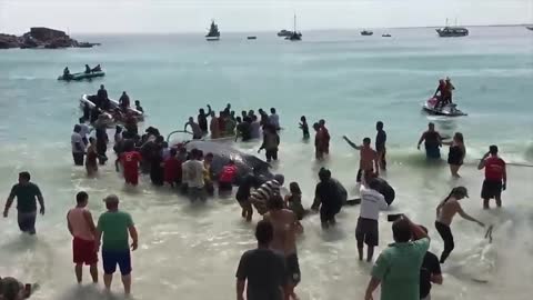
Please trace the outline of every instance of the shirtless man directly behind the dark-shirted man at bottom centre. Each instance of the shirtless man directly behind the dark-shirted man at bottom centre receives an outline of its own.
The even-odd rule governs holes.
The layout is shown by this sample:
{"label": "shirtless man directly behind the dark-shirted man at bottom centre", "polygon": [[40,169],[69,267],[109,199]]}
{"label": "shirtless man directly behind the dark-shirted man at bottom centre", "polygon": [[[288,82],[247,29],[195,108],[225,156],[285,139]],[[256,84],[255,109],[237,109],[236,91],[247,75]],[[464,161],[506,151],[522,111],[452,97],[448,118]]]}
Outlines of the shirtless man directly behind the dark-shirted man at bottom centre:
{"label": "shirtless man directly behind the dark-shirted man at bottom centre", "polygon": [[[294,288],[300,282],[300,264],[296,254],[296,234],[303,232],[303,227],[291,210],[284,209],[283,198],[275,194],[269,201],[269,212],[263,216],[274,227],[274,239],[270,248],[285,257],[289,278],[288,291],[292,299],[298,299]],[[289,299],[285,299],[289,300]]]}

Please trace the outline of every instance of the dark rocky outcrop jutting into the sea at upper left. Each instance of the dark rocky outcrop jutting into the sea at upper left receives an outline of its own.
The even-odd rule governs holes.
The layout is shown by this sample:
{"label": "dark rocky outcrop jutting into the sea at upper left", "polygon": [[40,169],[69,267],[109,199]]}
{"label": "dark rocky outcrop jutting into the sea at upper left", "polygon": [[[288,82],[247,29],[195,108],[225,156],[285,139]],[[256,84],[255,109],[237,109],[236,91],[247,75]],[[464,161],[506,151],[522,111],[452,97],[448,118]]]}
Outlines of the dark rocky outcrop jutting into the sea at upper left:
{"label": "dark rocky outcrop jutting into the sea at upper left", "polygon": [[0,49],[9,48],[47,48],[59,49],[68,47],[80,47],[80,43],[70,38],[64,31],[33,27],[29,32],[22,37],[1,34],[0,33]]}

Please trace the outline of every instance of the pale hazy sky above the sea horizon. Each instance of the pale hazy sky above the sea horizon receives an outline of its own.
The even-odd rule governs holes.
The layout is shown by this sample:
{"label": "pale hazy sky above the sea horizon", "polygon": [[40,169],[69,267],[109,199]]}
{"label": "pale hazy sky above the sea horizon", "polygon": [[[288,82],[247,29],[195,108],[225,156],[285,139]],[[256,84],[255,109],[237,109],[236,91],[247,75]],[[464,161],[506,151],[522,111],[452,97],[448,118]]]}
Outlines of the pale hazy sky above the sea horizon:
{"label": "pale hazy sky above the sea horizon", "polygon": [[[533,0],[0,0],[0,32],[30,27],[70,33],[274,31],[533,23]],[[83,19],[88,21],[83,21]],[[89,21],[90,20],[90,21]]]}

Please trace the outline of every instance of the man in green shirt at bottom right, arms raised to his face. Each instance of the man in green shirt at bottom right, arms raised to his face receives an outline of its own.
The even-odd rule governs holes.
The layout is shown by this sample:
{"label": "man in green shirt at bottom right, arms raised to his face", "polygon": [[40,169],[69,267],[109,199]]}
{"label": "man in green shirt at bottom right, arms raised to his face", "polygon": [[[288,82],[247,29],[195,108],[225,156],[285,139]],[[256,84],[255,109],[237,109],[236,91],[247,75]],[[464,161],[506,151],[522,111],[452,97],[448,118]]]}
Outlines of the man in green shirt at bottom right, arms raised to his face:
{"label": "man in green shirt at bottom right, arms raised to his face", "polygon": [[[364,300],[381,284],[381,300],[419,300],[420,267],[430,238],[405,216],[392,224],[394,243],[384,249],[372,269]],[[413,241],[411,241],[413,239]]]}

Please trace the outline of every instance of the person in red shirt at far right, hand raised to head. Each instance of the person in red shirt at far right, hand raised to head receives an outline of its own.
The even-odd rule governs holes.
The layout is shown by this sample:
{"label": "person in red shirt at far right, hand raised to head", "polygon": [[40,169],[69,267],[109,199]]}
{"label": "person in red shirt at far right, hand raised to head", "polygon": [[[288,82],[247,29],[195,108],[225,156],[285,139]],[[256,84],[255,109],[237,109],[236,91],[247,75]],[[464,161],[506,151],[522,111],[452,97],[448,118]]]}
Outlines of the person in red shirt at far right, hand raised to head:
{"label": "person in red shirt at far right, hand raised to head", "polygon": [[497,146],[493,144],[489,148],[489,152],[483,156],[477,164],[477,169],[485,169],[485,180],[481,189],[481,198],[483,199],[483,208],[489,209],[489,201],[496,199],[496,206],[502,207],[502,191],[507,187],[507,171],[505,161],[497,156]]}

